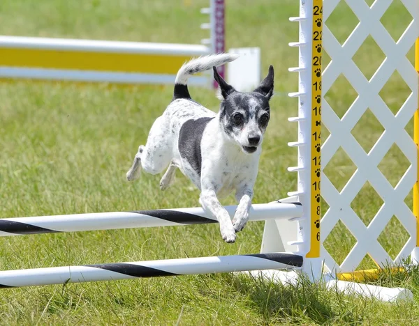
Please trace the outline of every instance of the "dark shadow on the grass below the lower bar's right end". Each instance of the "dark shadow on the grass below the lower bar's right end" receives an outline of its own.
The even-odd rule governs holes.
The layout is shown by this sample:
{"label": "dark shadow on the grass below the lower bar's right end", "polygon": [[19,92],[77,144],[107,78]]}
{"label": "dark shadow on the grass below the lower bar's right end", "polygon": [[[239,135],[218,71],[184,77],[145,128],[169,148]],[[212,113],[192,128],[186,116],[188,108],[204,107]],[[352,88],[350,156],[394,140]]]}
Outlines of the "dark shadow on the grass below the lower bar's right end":
{"label": "dark shadow on the grass below the lower bar's right end", "polygon": [[242,274],[232,280],[235,289],[246,294],[266,323],[288,320],[299,323],[362,323],[359,302],[327,290],[323,284],[300,279],[297,284],[276,283]]}

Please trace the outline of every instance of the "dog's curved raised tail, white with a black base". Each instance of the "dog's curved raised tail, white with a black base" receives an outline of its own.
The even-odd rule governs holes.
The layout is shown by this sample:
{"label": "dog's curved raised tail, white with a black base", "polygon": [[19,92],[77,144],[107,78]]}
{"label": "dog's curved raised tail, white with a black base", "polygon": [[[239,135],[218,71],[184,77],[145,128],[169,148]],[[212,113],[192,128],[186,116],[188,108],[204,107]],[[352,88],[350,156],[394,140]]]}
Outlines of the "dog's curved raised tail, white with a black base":
{"label": "dog's curved raised tail, white with a black base", "polygon": [[188,78],[197,72],[210,70],[212,67],[218,67],[225,63],[234,61],[239,56],[237,54],[211,54],[209,56],[200,56],[199,58],[192,59],[184,63],[179,69],[175,79],[175,90],[173,92],[173,99],[177,98],[191,98],[188,91]]}

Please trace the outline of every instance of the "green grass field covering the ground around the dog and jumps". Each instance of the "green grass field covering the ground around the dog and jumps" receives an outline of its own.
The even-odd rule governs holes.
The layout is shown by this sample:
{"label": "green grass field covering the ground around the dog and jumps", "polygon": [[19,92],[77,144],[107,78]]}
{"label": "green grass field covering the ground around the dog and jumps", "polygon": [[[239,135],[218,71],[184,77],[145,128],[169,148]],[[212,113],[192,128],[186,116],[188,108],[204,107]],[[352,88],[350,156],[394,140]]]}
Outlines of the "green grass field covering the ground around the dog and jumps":
{"label": "green grass field covering the ground around the dog and jumps", "polygon": [[[277,96],[272,99],[272,119],[253,200],[265,203],[285,197],[296,184],[296,176],[286,171],[295,165],[296,150],[286,144],[295,141],[297,126],[286,118],[297,114],[297,100],[284,94],[297,90],[297,75],[288,72],[288,67],[297,65],[297,49],[287,44],[298,37],[297,25],[288,22],[288,17],[297,15],[298,3],[227,2],[228,47],[260,47],[263,72],[270,64],[276,72]],[[382,20],[394,37],[402,33],[409,19],[397,3],[392,15]],[[198,43],[207,37],[206,31],[198,29],[205,22],[199,9],[206,5],[206,0],[3,0],[1,33]],[[327,23],[343,42],[356,22],[341,3]],[[413,62],[413,49],[408,56]],[[372,39],[354,56],[369,77],[382,60]],[[393,112],[410,93],[400,80],[394,75],[381,94]],[[191,88],[191,94],[217,109],[214,92]],[[175,185],[164,193],[159,190],[160,176],[142,174],[135,183],[125,180],[136,148],[145,143],[149,127],[171,95],[171,86],[0,84],[0,217],[197,206],[198,191],[180,173]],[[339,116],[355,96],[344,77],[325,95]],[[372,114],[366,114],[355,128],[353,133],[366,150],[383,131]],[[406,130],[412,134],[412,122]],[[380,169],[395,185],[408,166],[406,157],[392,148]],[[341,150],[324,171],[341,189],[355,169]],[[362,197],[355,199],[353,209],[369,222],[382,200],[368,185]],[[406,203],[411,202],[410,195]],[[234,201],[230,197],[223,203]],[[323,212],[326,208],[323,204]],[[217,225],[1,238],[0,270],[257,253],[262,232],[262,222],[248,224],[235,244],[221,240]],[[406,231],[393,222],[381,244],[395,256],[405,241]],[[325,246],[341,263],[354,242],[339,224]],[[375,265],[365,258],[362,267]],[[339,295],[304,282],[284,288],[232,274],[1,290],[0,324],[414,325],[419,323],[418,273],[413,268],[397,276],[383,274],[377,281],[413,290],[415,300],[399,304]]]}

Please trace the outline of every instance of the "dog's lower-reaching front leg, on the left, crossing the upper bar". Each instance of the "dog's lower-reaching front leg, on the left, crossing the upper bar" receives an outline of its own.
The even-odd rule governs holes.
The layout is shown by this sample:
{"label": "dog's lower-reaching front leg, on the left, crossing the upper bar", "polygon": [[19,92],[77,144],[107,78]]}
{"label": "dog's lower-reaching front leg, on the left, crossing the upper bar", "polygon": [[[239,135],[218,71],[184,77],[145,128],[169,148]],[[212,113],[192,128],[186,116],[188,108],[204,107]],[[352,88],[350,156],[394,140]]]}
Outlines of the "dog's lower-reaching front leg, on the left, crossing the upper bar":
{"label": "dog's lower-reaching front leg, on the left, crossing the upper bar", "polygon": [[216,198],[214,190],[203,189],[200,194],[199,201],[204,210],[210,212],[210,214],[218,220],[223,240],[228,243],[235,242],[236,235],[233,223],[231,223],[230,215],[228,215],[226,208],[223,208],[223,205],[221,205],[219,200]]}

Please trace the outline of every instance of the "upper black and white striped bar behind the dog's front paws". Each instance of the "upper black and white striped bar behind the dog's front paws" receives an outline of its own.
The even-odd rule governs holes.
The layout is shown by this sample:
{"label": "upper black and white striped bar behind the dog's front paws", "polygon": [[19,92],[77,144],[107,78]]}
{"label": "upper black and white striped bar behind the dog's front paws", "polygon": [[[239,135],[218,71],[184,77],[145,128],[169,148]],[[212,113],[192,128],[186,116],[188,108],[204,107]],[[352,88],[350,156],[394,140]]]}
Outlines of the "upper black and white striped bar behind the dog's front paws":
{"label": "upper black and white striped bar behind the dog's front paws", "polygon": [[[236,205],[225,206],[233,217]],[[251,221],[289,219],[302,216],[300,203],[265,203],[251,207]],[[137,210],[133,212],[101,212],[38,217],[0,219],[0,236],[38,233],[110,230],[116,228],[150,228],[217,223],[203,208],[175,208],[172,210]]]}

